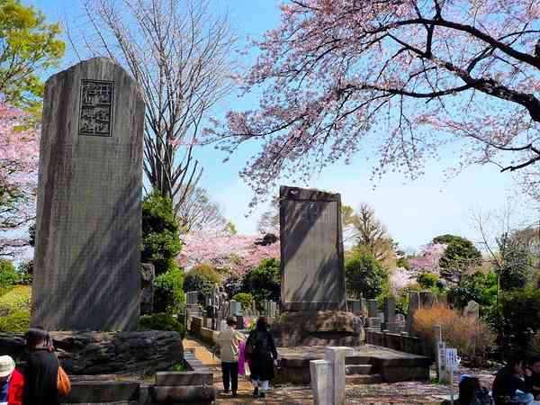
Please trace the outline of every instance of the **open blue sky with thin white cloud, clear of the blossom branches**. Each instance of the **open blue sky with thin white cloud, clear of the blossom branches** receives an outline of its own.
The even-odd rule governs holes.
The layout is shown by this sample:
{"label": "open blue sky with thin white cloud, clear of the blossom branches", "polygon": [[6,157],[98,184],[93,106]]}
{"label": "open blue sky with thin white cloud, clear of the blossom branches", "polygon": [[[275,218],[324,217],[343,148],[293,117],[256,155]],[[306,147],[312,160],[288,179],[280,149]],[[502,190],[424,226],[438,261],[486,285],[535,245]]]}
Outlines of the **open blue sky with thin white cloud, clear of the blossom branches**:
{"label": "open blue sky with thin white cloud, clear of the blossom branches", "polygon": [[[61,20],[65,14],[76,15],[73,4],[76,0],[23,0],[33,4],[49,16],[50,21]],[[215,7],[229,7],[231,21],[240,40],[258,38],[279,23],[279,10],[275,0],[213,0]],[[251,52],[247,58],[253,58]],[[256,107],[255,97],[238,99],[231,94],[220,103],[215,112],[220,115],[229,109],[251,109]],[[227,164],[225,157],[212,148],[199,148],[197,157],[204,166],[202,186],[211,197],[220,202],[224,214],[232,220],[241,233],[255,233],[257,218],[265,207],[260,206],[246,218],[247,204],[251,192],[238,177],[247,157],[257,152],[257,145],[241,148]],[[378,217],[383,220],[392,238],[402,247],[419,247],[431,238],[444,233],[455,233],[473,241],[478,235],[473,229],[471,211],[500,209],[509,197],[517,195],[516,182],[512,175],[500,174],[496,166],[476,166],[446,182],[443,170],[456,166],[457,162],[447,158],[428,165],[427,175],[410,182],[401,175],[387,175],[374,183],[369,179],[371,166],[358,158],[352,165],[330,167],[313,178],[311,186],[342,194],[342,201],[356,207],[360,202],[371,204]],[[301,185],[301,184],[299,184]],[[523,216],[532,211],[523,208]]]}

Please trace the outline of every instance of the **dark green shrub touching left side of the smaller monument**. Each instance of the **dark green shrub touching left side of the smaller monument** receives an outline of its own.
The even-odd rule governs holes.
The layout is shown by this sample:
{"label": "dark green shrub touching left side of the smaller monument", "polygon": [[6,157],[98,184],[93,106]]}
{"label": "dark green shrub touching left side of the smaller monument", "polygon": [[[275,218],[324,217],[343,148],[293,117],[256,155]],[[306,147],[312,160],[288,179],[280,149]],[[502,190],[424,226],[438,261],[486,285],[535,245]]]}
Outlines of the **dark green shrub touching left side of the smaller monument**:
{"label": "dark green shrub touching left side of the smaller monument", "polygon": [[263,260],[244,277],[244,293],[251,293],[257,308],[262,309],[264,301],[278,302],[281,295],[281,270],[279,260]]}

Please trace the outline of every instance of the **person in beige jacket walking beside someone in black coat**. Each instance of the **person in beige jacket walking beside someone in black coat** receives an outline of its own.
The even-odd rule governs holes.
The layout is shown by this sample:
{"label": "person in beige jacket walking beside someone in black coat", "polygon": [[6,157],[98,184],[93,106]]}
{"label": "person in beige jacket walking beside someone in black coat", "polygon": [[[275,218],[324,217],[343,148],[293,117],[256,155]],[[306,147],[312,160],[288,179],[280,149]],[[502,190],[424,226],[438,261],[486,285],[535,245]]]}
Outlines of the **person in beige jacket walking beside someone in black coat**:
{"label": "person in beige jacket walking beside someone in black coat", "polygon": [[220,346],[221,372],[223,374],[223,392],[230,391],[236,397],[238,392],[238,345],[245,340],[244,335],[235,330],[236,320],[229,318],[227,328],[221,330],[217,341]]}

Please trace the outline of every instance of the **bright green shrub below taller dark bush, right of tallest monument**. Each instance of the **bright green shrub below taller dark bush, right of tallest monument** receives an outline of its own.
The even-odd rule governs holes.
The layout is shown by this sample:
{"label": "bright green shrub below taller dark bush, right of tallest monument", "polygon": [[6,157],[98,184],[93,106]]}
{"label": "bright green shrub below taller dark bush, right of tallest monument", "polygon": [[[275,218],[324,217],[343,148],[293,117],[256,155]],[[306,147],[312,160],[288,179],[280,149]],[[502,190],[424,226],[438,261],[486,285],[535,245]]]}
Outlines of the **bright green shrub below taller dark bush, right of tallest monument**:
{"label": "bright green shrub below taller dark bush, right of tallest monument", "polygon": [[184,272],[173,266],[154,280],[154,311],[176,315],[184,308]]}

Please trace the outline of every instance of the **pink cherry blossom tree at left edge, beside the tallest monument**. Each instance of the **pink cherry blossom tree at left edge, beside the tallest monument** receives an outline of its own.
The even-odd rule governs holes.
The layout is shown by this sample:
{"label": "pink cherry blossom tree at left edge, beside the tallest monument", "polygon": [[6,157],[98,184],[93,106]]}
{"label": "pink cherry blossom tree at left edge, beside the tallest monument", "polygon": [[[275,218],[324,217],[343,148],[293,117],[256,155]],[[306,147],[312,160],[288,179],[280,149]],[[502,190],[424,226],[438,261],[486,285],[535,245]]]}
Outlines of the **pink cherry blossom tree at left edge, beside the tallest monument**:
{"label": "pink cherry blossom tree at left edge, beside the tallest monument", "polygon": [[40,147],[37,132],[23,125],[27,119],[29,114],[0,102],[0,256],[26,245],[4,232],[23,226],[34,212]]}

